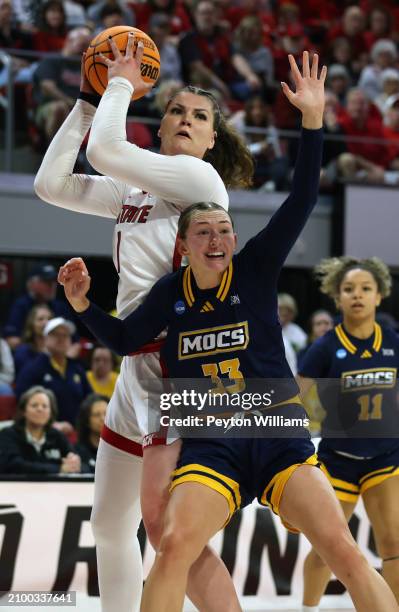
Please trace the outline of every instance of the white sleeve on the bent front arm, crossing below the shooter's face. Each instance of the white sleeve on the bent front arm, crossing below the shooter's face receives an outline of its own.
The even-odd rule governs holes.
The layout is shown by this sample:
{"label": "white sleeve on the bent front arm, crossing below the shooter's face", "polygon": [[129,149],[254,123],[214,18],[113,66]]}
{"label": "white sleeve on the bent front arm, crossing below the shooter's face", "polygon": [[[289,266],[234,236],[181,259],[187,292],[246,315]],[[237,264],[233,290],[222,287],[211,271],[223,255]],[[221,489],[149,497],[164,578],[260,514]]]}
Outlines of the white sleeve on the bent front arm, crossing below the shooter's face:
{"label": "white sleeve on the bent front arm, crossing below the shooter's face", "polygon": [[102,174],[184,208],[213,201],[228,207],[228,195],[215,168],[190,155],[162,155],[127,142],[126,114],[133,87],[113,77],[101,98],[87,147],[87,158]]}

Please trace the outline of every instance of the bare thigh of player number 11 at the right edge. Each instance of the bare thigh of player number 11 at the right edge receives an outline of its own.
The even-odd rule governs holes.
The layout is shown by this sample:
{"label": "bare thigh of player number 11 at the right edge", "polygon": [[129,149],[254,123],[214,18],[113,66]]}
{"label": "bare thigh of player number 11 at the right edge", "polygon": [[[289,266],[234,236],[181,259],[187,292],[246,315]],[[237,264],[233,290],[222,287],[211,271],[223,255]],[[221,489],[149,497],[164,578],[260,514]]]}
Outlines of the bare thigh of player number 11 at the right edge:
{"label": "bare thigh of player number 11 at the right edge", "polygon": [[399,475],[363,493],[363,503],[382,558],[399,554]]}

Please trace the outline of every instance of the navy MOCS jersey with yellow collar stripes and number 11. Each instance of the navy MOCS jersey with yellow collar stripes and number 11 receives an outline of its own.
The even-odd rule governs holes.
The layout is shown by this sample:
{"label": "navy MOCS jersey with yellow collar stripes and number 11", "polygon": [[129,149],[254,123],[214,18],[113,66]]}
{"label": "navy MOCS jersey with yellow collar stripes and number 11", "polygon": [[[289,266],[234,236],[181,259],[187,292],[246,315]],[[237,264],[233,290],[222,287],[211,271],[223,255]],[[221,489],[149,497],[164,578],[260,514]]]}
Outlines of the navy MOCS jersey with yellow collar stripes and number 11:
{"label": "navy MOCS jersey with yellow collar stripes and number 11", "polygon": [[366,339],[340,323],[309,348],[300,375],[317,379],[322,449],[375,457],[399,446],[398,367],[399,337],[378,323]]}

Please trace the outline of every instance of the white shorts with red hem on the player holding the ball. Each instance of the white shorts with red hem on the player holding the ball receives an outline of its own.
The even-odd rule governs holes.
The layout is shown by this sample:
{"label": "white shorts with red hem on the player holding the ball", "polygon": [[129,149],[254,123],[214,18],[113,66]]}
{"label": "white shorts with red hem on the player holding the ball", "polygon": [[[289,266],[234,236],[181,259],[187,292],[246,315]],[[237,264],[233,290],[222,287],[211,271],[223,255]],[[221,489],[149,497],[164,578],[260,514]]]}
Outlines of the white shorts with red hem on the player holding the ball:
{"label": "white shorts with red hem on the player holding the ball", "polygon": [[108,444],[142,456],[143,443],[170,444],[176,439],[169,440],[166,432],[159,431],[160,410],[149,402],[149,387],[154,390],[162,375],[159,352],[123,358],[101,433]]}

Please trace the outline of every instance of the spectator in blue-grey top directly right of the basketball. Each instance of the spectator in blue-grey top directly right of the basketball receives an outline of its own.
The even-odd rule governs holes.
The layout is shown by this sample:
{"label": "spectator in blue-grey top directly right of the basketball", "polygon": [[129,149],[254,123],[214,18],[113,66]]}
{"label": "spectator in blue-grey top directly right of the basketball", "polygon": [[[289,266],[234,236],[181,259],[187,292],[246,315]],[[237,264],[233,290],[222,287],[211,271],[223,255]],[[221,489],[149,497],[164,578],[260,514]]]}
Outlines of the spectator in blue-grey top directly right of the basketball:
{"label": "spectator in blue-grey top directly right of the basketball", "polygon": [[180,55],[171,42],[171,18],[166,13],[153,13],[148,22],[148,34],[156,44],[161,56],[161,74],[158,83],[182,78]]}

